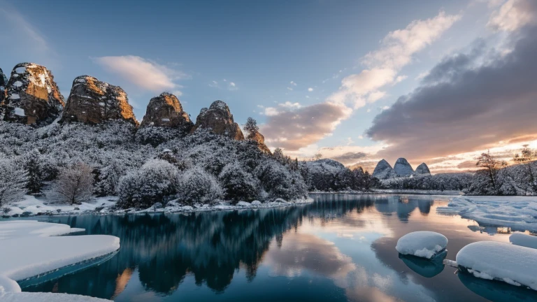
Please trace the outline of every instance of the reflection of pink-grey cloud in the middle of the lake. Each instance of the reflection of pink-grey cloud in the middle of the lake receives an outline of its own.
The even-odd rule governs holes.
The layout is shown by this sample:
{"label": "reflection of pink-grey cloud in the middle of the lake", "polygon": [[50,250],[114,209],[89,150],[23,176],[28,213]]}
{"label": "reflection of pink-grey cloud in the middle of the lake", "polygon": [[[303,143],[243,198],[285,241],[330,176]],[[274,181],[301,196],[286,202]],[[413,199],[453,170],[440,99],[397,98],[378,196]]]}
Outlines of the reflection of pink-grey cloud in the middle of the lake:
{"label": "reflection of pink-grey cloud in the middle of the lake", "polygon": [[340,279],[356,268],[334,243],[310,234],[287,233],[282,247],[271,248],[265,259],[273,276],[295,277],[306,270]]}

